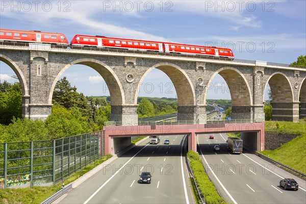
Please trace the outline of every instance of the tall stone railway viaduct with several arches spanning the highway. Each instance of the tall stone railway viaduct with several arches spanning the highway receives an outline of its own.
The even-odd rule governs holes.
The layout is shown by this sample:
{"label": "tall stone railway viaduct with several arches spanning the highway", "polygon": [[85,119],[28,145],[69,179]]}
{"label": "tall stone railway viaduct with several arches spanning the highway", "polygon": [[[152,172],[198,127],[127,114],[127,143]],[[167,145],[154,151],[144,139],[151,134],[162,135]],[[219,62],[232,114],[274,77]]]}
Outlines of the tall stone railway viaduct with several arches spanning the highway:
{"label": "tall stone railway viaduct with several arches spanning the highway", "polygon": [[24,118],[45,119],[51,113],[55,85],[74,64],[87,65],[103,77],[111,96],[111,120],[122,124],[137,124],[138,89],[154,68],[165,72],[175,87],[177,120],[206,123],[207,91],[217,73],[231,93],[234,119],[265,118],[263,101],[268,84],[273,98],[273,120],[297,122],[299,116],[306,117],[306,68],[262,61],[3,42],[0,60],[19,79]]}

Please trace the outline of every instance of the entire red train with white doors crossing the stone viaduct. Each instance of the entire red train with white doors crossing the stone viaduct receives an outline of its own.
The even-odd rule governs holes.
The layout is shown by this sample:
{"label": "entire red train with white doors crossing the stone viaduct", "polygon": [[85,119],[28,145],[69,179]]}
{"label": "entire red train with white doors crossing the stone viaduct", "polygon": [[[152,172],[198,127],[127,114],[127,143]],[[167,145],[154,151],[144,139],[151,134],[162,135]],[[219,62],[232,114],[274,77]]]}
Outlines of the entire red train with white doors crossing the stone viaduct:
{"label": "entire red train with white doors crossing the stone viaduct", "polygon": [[[64,34],[43,33],[39,31],[14,31],[0,29],[0,41],[41,42],[69,45]],[[228,48],[188,45],[172,42],[75,35],[71,40],[70,45],[121,48],[188,55],[205,55],[225,57],[234,60],[234,53]]]}

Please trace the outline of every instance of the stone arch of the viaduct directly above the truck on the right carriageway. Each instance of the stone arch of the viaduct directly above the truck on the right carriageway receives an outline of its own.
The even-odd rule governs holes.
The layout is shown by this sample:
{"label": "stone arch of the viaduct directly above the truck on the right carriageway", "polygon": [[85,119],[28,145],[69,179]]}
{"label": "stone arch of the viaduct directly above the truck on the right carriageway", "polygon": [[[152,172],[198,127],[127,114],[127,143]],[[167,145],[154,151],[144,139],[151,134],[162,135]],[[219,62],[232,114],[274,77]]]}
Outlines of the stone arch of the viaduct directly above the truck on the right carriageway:
{"label": "stone arch of the viaduct directly above the truck on the right carriageway", "polygon": [[[251,106],[253,104],[250,86],[241,71],[233,67],[222,67],[214,72],[208,85],[211,84],[217,73],[221,75],[228,85],[232,97],[232,106]],[[205,104],[208,88],[209,86],[205,88]]]}

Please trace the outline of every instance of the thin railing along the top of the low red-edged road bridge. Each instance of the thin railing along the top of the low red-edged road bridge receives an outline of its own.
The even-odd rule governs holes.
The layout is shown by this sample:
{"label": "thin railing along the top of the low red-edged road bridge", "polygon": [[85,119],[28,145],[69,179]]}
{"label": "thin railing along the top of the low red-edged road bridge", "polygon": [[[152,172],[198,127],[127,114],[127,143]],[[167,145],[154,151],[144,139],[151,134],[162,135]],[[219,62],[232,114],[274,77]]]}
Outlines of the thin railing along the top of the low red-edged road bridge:
{"label": "thin railing along the top of the low red-edged road bridge", "polygon": [[[251,122],[264,122],[262,118],[258,119],[231,119],[231,120],[210,120],[205,124],[222,124],[222,123],[251,123]],[[172,125],[172,124],[204,124],[197,123],[195,120],[174,120],[174,121],[138,121],[138,124],[122,124],[121,121],[106,121],[105,126],[126,126],[126,125]]]}

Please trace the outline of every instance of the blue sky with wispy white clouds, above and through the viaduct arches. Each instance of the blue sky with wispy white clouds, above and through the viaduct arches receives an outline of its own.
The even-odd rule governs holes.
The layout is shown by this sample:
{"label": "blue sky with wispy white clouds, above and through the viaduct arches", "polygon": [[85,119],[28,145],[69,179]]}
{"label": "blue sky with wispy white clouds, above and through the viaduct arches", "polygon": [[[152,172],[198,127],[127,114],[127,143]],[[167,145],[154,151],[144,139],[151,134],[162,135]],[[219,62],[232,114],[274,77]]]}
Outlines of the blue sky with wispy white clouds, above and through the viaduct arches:
{"label": "blue sky with wispy white clouds, above and through the viaduct arches", "polygon": [[[0,27],[225,46],[235,58],[289,64],[306,55],[306,1],[0,1]],[[1,81],[14,82],[0,62]],[[85,95],[109,95],[96,71],[73,65],[66,76]],[[170,83],[170,84],[169,84]],[[207,98],[231,99],[217,75]],[[171,81],[152,70],[139,96],[175,97]],[[151,86],[152,84],[152,86]],[[151,89],[154,90],[151,90]]]}

